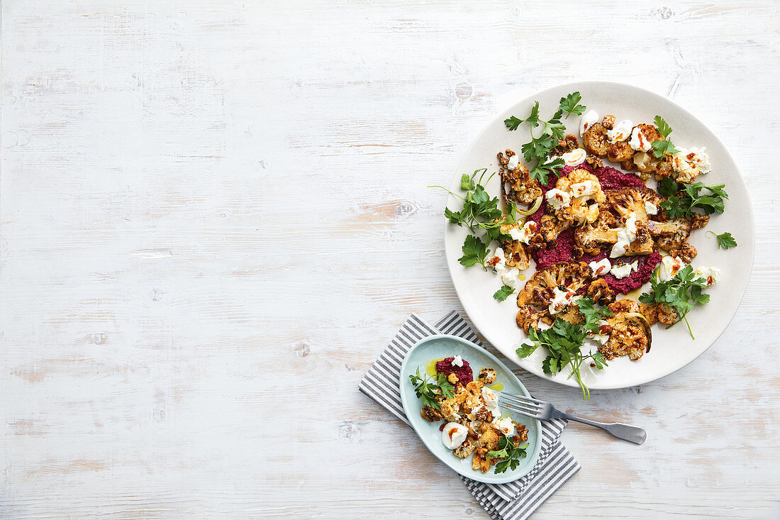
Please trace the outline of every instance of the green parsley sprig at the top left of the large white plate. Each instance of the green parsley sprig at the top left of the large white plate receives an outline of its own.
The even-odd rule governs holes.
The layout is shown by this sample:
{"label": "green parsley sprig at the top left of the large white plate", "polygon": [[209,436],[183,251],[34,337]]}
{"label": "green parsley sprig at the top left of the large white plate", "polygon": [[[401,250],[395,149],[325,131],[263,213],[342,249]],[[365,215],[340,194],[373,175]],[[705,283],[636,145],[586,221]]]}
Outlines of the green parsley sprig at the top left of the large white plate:
{"label": "green parsley sprig at the top left of the large white plate", "polygon": [[[526,162],[536,162],[530,170],[530,176],[542,184],[548,182],[548,175],[557,176],[564,166],[562,158],[549,158],[549,155],[550,151],[558,146],[558,140],[563,139],[566,135],[566,125],[561,122],[561,119],[566,119],[572,114],[580,116],[587,109],[585,105],[580,105],[580,101],[582,101],[580,92],[572,92],[565,98],[561,98],[558,102],[558,110],[547,120],[541,119],[539,116],[539,102],[534,103],[529,116],[525,119],[520,119],[517,116],[504,119],[504,124],[509,130],[517,130],[522,123],[530,124],[531,140],[523,144],[520,151],[523,152],[523,158]],[[539,137],[535,137],[533,129],[539,126],[542,127],[541,134]]]}

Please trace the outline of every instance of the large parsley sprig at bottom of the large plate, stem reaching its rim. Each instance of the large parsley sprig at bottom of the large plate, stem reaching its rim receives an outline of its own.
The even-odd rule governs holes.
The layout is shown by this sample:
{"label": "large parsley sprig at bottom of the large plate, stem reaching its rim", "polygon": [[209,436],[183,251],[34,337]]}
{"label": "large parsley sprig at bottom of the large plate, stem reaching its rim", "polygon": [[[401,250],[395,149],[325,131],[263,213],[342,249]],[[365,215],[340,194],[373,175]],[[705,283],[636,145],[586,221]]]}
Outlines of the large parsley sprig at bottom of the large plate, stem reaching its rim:
{"label": "large parsley sprig at bottom of the large plate, stem reaching its rim", "polygon": [[549,355],[542,362],[542,369],[545,374],[553,376],[560,372],[566,366],[570,366],[572,372],[569,378],[573,377],[580,384],[583,390],[583,400],[590,399],[590,390],[583,382],[580,367],[583,362],[590,361],[594,368],[603,369],[607,362],[601,352],[589,352],[583,354],[582,347],[588,333],[595,333],[598,329],[598,321],[612,316],[612,311],[606,307],[595,308],[594,301],[590,297],[581,297],[577,300],[577,306],[580,312],[585,315],[585,322],[569,323],[563,319],[555,319],[549,329],[530,329],[528,333],[529,341],[520,345],[517,349],[517,355],[521,358],[527,358],[533,354],[538,347],[547,347]]}

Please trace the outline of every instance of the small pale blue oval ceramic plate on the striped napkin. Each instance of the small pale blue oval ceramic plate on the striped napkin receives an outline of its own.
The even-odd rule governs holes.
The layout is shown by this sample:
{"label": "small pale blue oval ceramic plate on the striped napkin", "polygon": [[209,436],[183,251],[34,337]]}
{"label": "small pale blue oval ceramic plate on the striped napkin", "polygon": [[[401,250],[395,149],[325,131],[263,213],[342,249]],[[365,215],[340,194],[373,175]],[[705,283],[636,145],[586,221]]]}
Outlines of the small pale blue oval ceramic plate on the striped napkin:
{"label": "small pale blue oval ceramic plate on the striped napkin", "polygon": [[504,473],[496,474],[495,468],[491,468],[487,473],[483,473],[478,469],[472,469],[471,457],[457,458],[452,454],[452,450],[448,450],[444,443],[441,443],[441,431],[439,431],[441,422],[431,423],[420,417],[422,402],[415,395],[414,386],[410,383],[409,376],[417,372],[417,369],[420,369],[420,374],[425,373],[425,364],[431,361],[431,359],[449,358],[454,355],[459,355],[469,362],[475,374],[484,366],[495,368],[498,376],[496,380],[504,384],[504,391],[510,394],[529,395],[523,383],[520,383],[520,380],[512,374],[512,371],[498,361],[494,355],[473,343],[463,340],[463,338],[441,334],[420,340],[410,349],[409,354],[406,354],[406,359],[403,360],[401,365],[401,402],[406,417],[409,418],[414,431],[417,432],[417,435],[420,436],[420,439],[431,453],[461,475],[478,482],[491,484],[502,484],[519,479],[534,468],[539,458],[541,425],[537,419],[528,418],[514,412],[509,413],[502,409],[505,415],[512,416],[513,421],[526,425],[528,429],[528,447],[526,448],[527,457],[520,460],[519,466],[514,471],[507,470]]}

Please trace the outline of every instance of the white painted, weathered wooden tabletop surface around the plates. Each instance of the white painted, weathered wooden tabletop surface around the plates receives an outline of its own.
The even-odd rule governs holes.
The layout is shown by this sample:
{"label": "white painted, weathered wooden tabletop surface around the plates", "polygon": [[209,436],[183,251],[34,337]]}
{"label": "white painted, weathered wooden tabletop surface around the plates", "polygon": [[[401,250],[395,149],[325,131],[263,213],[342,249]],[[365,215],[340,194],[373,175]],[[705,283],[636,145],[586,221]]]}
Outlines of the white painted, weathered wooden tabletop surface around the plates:
{"label": "white painted, weathered wooden tabletop surface around the plates", "polygon": [[778,50],[772,2],[5,0],[0,517],[487,518],[357,383],[460,308],[425,186],[502,106],[614,79],[722,137],[757,255],[672,376],[518,371],[649,432],[570,426],[537,516],[778,518]]}

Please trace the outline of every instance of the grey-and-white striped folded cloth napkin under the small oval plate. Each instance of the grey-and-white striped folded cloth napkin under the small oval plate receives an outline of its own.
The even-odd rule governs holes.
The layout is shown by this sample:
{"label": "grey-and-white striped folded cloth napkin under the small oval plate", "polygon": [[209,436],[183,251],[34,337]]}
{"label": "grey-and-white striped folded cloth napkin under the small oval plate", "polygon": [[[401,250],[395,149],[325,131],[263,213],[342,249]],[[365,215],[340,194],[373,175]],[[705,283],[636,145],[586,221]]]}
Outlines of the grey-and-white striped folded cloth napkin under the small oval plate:
{"label": "grey-and-white striped folded cloth napkin under the small oval plate", "polygon": [[[360,381],[363,394],[387,408],[407,425],[409,421],[403,413],[399,393],[401,363],[417,341],[434,334],[451,334],[482,346],[477,334],[455,311],[433,326],[413,314]],[[580,464],[559,440],[566,421],[553,419],[541,422],[541,426],[539,460],[522,479],[505,484],[485,484],[460,475],[466,488],[494,520],[524,520],[530,517],[544,500],[580,471]]]}

